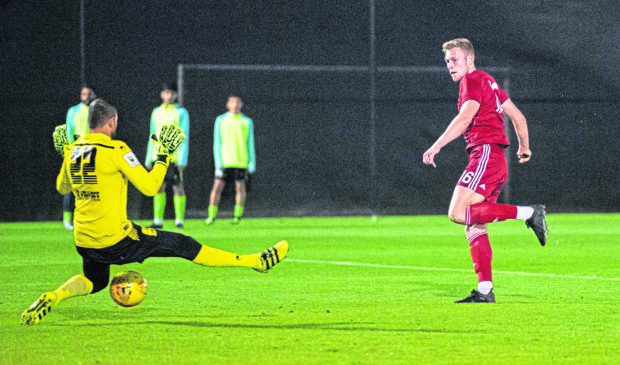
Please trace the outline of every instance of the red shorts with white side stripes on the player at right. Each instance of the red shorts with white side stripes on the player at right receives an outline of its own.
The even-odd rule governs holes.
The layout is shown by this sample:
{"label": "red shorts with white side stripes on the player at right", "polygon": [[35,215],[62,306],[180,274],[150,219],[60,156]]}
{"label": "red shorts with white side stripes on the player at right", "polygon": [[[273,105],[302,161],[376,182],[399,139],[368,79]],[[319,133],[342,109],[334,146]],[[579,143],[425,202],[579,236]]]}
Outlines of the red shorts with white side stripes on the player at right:
{"label": "red shorts with white side stripes on the player at right", "polygon": [[496,144],[474,146],[469,151],[469,164],[457,183],[495,203],[508,179],[504,149]]}

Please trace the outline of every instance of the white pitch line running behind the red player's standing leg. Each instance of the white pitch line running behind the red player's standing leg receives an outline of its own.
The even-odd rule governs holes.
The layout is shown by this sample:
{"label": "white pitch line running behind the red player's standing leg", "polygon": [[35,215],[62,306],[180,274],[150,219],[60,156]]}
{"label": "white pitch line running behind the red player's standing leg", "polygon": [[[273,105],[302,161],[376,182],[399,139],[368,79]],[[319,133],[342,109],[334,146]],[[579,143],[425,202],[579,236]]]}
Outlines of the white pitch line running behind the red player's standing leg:
{"label": "white pitch line running behind the red player's standing leg", "polygon": [[[321,261],[321,260],[302,260],[302,259],[287,259],[289,262],[299,262],[302,264],[323,264],[323,265],[337,265],[337,266],[359,266],[359,267],[374,267],[379,269],[403,269],[403,270],[419,270],[419,271],[456,271],[456,272],[471,272],[466,269],[451,269],[446,267],[424,267],[424,266],[403,266],[403,265],[383,265],[383,264],[367,264],[362,262],[348,262],[348,261]],[[579,280],[605,280],[605,281],[620,281],[620,278],[601,278],[598,276],[577,276],[577,275],[558,275],[558,274],[544,274],[535,272],[521,272],[521,271],[501,271],[493,270],[496,274],[516,275],[516,276],[539,276],[556,279],[579,279]]]}

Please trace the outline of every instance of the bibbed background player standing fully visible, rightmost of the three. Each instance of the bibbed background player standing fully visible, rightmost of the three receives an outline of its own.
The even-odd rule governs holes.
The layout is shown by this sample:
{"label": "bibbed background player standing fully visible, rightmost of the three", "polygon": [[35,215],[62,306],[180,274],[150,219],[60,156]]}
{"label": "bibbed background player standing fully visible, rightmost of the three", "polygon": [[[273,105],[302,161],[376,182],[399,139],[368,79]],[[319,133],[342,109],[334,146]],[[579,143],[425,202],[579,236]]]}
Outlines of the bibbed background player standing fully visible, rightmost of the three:
{"label": "bibbed background player standing fully visible, rightmost of the three", "polygon": [[225,182],[235,181],[235,212],[232,224],[239,223],[243,216],[246,198],[248,172],[256,171],[254,151],[254,123],[241,113],[243,101],[237,95],[230,95],[226,105],[228,112],[215,119],[213,131],[213,160],[215,181],[209,201],[207,224],[213,224],[217,216]]}

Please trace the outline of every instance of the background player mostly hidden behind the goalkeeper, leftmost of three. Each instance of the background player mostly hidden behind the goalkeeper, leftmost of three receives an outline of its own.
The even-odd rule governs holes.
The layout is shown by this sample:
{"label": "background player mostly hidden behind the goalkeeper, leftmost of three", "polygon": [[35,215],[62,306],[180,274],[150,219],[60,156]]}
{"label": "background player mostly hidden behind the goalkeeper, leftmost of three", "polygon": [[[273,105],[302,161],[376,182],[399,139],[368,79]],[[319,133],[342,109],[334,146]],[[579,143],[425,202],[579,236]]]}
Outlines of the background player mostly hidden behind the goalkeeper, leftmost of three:
{"label": "background player mostly hidden behind the goalkeeper, leftmost of three", "polygon": [[[67,112],[67,138],[73,143],[77,136],[88,133],[88,105],[97,96],[92,88],[82,86],[80,90],[80,103],[69,108]],[[66,229],[73,230],[73,194],[63,195],[62,220]]]}

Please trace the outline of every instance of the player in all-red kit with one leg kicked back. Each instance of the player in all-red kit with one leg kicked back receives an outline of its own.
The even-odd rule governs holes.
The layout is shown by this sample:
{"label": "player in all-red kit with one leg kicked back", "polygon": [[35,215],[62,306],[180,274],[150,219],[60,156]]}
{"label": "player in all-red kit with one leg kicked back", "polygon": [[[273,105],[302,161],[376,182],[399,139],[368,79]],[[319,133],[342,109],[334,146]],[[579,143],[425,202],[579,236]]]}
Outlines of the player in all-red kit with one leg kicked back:
{"label": "player in all-red kit with one leg kicked back", "polygon": [[464,135],[469,164],[454,190],[448,215],[453,222],[465,225],[474,269],[478,274],[478,290],[473,290],[470,296],[457,303],[495,302],[492,252],[486,224],[506,219],[524,220],[544,246],[548,232],[545,207],[496,203],[508,177],[504,148],[509,142],[504,133],[503,113],[512,119],[517,133],[520,163],[527,162],[532,156],[525,117],[489,74],[476,70],[474,48],[469,40],[459,38],[446,42],[443,51],[452,80],[460,81],[459,114],[424,153],[423,159],[425,164],[435,166],[434,158],[441,148]]}

